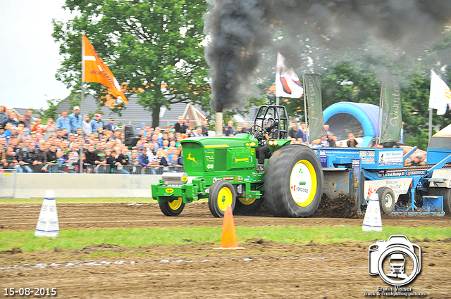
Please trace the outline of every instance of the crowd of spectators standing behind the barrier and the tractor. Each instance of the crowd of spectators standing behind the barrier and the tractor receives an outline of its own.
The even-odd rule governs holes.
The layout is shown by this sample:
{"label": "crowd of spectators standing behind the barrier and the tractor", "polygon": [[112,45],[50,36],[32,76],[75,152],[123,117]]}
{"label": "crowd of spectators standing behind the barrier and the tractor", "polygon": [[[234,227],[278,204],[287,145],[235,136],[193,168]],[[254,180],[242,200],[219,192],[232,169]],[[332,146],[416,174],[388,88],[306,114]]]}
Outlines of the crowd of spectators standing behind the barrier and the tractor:
{"label": "crowd of spectators standing behind the barrier and the tractor", "polygon": [[[164,171],[183,172],[183,152],[180,141],[193,136],[208,136],[208,122],[191,129],[190,120],[178,117],[178,122],[165,128],[145,123],[138,130],[140,139],[135,146],[125,145],[124,127],[111,118],[107,123],[101,113],[94,119],[81,115],[80,107],[72,113],[63,111],[56,120],[44,122],[32,119],[32,110],[17,115],[0,106],[0,168],[18,172],[78,173],[80,165],[86,173],[160,174]],[[288,132],[292,144],[306,144],[311,148],[338,147],[337,138],[324,125],[326,135],[311,142],[302,123],[297,129],[293,122]],[[228,121],[223,135],[250,133],[247,122],[238,125]],[[358,145],[349,134],[348,147]],[[81,153],[81,154],[80,154]],[[80,163],[81,158],[81,163]]]}

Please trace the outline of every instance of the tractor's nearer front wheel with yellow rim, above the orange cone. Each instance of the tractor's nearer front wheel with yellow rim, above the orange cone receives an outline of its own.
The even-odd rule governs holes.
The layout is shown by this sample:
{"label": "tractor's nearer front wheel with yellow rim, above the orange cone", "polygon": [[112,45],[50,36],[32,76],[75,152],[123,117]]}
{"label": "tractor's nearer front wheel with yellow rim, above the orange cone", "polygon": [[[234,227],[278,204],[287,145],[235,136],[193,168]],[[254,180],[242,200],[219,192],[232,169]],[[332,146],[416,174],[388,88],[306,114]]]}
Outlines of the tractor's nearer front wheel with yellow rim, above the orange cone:
{"label": "tractor's nearer front wheel with yellow rim, above the orange cone", "polygon": [[214,217],[224,217],[227,206],[235,208],[237,196],[232,184],[224,179],[211,185],[209,193],[209,208]]}

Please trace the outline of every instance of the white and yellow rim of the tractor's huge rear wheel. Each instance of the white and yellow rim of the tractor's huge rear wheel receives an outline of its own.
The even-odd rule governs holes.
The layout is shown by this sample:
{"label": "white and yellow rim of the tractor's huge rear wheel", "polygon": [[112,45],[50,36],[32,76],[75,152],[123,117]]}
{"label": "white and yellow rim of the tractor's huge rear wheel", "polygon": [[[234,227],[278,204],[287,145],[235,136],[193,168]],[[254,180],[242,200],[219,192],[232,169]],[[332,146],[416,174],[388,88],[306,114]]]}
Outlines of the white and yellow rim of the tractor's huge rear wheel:
{"label": "white and yellow rim of the tractor's huge rear wheel", "polygon": [[307,160],[295,164],[290,175],[291,196],[299,207],[307,207],[316,195],[315,168]]}

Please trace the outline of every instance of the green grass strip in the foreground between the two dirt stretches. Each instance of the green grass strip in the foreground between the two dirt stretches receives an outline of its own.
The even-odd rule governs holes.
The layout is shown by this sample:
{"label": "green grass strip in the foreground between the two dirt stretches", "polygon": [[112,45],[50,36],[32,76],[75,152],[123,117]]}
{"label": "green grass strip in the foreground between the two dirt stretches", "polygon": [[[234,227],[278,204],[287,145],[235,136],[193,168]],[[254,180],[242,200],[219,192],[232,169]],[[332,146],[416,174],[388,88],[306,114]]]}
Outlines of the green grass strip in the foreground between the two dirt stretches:
{"label": "green grass strip in the foreground between the two dirt stretches", "polygon": [[[432,241],[451,237],[449,227],[383,227],[383,231],[362,231],[361,227],[237,227],[238,242],[249,238],[264,238],[278,243],[359,243],[387,240],[395,234]],[[4,231],[0,234],[0,251],[18,247],[38,252],[82,249],[92,244],[109,243],[124,248],[191,243],[220,243],[221,227],[152,228],[152,229],[92,229],[62,230],[58,238],[35,237],[34,231]]]}

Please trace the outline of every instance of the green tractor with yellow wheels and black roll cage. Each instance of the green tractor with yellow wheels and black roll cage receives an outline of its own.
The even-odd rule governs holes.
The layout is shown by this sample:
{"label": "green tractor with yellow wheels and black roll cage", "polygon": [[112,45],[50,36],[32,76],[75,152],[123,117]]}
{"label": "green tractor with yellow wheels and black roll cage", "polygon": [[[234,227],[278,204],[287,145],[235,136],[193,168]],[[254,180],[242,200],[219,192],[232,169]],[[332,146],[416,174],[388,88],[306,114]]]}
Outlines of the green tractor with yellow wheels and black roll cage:
{"label": "green tractor with yellow wheels and black roll cage", "polygon": [[[166,172],[152,184],[161,212],[178,216],[185,203],[208,198],[215,217],[223,217],[228,205],[252,214],[263,201],[276,217],[311,216],[323,191],[321,163],[308,146],[290,145],[288,128],[284,106],[264,105],[251,134],[183,139],[186,173]],[[266,155],[264,165],[259,154]]]}

